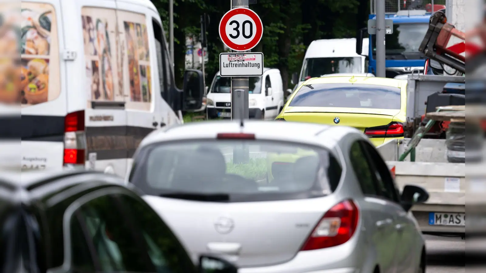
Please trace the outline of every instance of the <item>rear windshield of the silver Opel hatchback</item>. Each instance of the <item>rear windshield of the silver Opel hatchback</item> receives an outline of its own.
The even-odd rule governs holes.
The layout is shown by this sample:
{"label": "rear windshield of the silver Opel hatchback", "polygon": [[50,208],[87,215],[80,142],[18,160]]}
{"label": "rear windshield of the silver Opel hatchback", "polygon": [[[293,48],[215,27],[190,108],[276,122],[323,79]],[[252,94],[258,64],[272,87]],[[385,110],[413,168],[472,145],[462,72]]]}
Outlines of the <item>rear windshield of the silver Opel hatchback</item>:
{"label": "rear windshield of the silver Opel hatchback", "polygon": [[148,195],[208,202],[321,197],[342,167],[328,150],[263,140],[193,140],[139,151],[130,183]]}

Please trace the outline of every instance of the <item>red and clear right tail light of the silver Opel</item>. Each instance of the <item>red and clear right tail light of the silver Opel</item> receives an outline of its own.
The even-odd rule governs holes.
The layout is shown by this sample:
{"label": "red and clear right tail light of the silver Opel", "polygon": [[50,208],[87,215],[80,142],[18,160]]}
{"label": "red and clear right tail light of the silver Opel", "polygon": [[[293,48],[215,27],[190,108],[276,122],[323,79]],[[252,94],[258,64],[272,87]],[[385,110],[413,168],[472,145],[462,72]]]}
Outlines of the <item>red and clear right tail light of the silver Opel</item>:
{"label": "red and clear right tail light of the silver Opel", "polygon": [[347,242],[356,231],[358,220],[358,207],[352,200],[334,205],[317,223],[300,250],[322,249]]}

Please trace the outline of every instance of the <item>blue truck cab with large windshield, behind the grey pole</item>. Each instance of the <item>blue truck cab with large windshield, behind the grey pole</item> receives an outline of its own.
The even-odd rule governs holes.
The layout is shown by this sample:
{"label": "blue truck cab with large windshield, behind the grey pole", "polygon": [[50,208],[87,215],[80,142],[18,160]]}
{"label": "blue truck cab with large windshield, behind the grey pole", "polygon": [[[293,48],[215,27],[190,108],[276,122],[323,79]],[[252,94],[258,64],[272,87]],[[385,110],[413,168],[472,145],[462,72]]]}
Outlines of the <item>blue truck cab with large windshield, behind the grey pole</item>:
{"label": "blue truck cab with large windshield, behind the grey pole", "polygon": [[[393,20],[393,33],[385,34],[386,77],[395,78],[418,69],[423,73],[426,57],[418,51],[429,28],[431,12],[423,10],[399,10],[386,13],[386,19]],[[369,19],[376,19],[370,14]],[[361,44],[367,28],[358,32],[357,44]],[[358,54],[358,45],[356,48]],[[376,35],[369,34],[368,72],[376,74]]]}

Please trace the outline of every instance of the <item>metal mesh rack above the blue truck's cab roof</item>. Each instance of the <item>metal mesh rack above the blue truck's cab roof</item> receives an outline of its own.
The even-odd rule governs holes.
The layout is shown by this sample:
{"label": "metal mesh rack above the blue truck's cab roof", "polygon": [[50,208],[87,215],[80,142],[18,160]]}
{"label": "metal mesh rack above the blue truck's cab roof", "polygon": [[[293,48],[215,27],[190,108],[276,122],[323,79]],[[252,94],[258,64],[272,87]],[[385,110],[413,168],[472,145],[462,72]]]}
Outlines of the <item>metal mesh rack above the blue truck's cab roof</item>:
{"label": "metal mesh rack above the blue truck's cab roof", "polygon": [[[376,13],[376,0],[370,0],[371,14]],[[428,12],[437,11],[435,5],[446,5],[446,0],[385,0],[385,14],[395,14],[403,10],[427,10]]]}

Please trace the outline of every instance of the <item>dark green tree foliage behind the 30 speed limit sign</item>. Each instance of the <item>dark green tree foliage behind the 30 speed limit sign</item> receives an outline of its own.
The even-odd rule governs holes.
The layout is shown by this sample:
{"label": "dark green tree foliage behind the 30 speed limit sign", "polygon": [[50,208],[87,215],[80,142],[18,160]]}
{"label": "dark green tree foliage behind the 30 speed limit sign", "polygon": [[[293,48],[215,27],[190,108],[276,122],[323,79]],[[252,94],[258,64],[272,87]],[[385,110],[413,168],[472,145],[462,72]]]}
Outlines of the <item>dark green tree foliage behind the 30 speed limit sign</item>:
{"label": "dark green tree foliage behind the 30 speed limit sign", "polygon": [[[163,20],[168,38],[169,0],[152,0]],[[182,87],[186,36],[200,35],[200,16],[209,15],[206,85],[219,70],[219,53],[224,51],[218,34],[221,17],[230,0],[174,0],[175,80]],[[263,22],[263,37],[252,51],[264,54],[265,67],[279,68],[283,86],[292,88],[293,72],[300,72],[305,51],[316,39],[351,38],[365,26],[369,0],[257,0],[250,5]]]}

